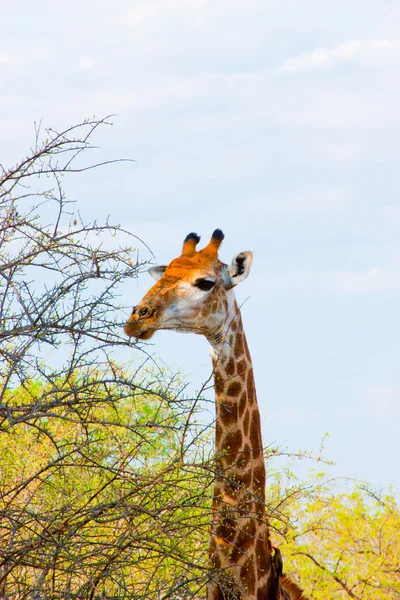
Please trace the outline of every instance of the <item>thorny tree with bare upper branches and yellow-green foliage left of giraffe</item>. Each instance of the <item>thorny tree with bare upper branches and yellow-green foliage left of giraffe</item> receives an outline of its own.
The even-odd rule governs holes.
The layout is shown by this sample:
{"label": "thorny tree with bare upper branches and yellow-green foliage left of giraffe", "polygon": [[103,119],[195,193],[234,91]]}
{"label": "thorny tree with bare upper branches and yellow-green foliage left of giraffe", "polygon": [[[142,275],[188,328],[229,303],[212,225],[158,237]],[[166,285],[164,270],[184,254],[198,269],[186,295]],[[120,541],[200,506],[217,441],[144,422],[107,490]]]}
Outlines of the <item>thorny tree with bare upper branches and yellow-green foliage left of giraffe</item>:
{"label": "thorny tree with bare upper branches and yellow-green foliage left of giraffe", "polygon": [[115,359],[129,344],[118,288],[145,268],[140,240],[87,223],[62,186],[101,166],[77,165],[106,124],[37,132],[27,158],[1,167],[2,598],[172,598],[206,578],[197,400],[145,354],[129,369]]}

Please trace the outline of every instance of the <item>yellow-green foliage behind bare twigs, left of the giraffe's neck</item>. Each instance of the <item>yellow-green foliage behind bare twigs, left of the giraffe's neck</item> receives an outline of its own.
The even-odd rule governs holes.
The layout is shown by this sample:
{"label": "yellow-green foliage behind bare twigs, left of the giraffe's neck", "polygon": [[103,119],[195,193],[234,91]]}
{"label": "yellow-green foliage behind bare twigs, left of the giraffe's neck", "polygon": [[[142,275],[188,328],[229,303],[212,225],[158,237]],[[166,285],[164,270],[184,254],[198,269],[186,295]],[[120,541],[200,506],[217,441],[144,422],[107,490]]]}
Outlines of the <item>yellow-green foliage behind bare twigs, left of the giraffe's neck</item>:
{"label": "yellow-green foliage behind bare twigs, left of the giraffe's neck", "polygon": [[179,575],[204,584],[210,477],[192,405],[165,379],[164,397],[143,379],[132,393],[105,381],[7,392],[19,407],[53,392],[56,408],[0,435],[2,597],[155,598]]}

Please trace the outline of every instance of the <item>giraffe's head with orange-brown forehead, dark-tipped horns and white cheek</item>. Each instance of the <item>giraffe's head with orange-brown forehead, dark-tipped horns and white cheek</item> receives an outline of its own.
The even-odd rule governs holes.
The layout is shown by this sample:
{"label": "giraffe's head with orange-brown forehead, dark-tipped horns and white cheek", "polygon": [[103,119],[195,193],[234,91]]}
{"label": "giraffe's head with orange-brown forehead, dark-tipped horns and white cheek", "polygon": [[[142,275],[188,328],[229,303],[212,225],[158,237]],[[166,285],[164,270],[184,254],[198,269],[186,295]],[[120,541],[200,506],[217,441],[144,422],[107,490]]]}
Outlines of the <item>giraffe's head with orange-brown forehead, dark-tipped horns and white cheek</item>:
{"label": "giraffe's head with orange-brown forehead, dark-tipped horns and white cheek", "polygon": [[224,325],[234,316],[232,288],[246,279],[253,257],[241,252],[228,267],[218,259],[223,239],[216,229],[209,244],[198,251],[200,237],[189,233],[178,258],[168,266],[151,267],[149,273],[157,283],[133,307],[125,333],[148,340],[157,330],[170,329],[220,340]]}

